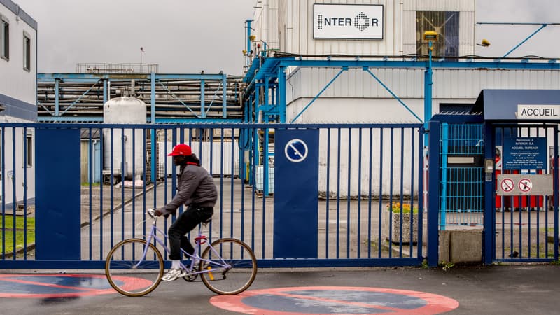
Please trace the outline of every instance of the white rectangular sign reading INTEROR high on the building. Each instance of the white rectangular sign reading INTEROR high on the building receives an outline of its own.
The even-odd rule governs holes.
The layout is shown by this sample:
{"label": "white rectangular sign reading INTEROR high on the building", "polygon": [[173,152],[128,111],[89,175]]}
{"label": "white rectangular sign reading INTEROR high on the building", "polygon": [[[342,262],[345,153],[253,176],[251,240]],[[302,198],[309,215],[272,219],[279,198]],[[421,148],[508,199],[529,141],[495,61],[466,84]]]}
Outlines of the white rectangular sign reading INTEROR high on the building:
{"label": "white rectangular sign reading INTEROR high on the building", "polygon": [[314,4],[313,38],[383,39],[383,6]]}

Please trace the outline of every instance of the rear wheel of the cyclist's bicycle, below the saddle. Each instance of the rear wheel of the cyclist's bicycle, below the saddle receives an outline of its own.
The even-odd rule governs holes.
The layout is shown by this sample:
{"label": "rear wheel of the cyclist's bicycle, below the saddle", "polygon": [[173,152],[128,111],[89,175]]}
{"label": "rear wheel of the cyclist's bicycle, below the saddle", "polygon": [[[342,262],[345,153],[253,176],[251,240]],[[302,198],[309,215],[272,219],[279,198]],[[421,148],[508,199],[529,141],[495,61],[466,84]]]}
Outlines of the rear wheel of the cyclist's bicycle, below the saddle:
{"label": "rear wheel of the cyclist's bicycle, below the saddle", "polygon": [[257,275],[257,259],[251,248],[239,239],[218,239],[201,255],[200,274],[214,293],[232,295],[246,290]]}

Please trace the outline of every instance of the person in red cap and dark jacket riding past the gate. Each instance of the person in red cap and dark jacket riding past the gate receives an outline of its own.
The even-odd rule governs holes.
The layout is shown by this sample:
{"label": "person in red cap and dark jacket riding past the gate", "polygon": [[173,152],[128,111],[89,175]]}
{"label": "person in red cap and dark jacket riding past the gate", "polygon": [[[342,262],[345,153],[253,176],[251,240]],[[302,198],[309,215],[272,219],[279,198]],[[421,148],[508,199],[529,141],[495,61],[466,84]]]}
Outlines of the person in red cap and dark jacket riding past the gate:
{"label": "person in red cap and dark jacket riding past the gate", "polygon": [[177,194],[171,202],[158,208],[155,215],[167,218],[169,214],[175,214],[183,204],[187,209],[169,227],[169,259],[172,260],[172,265],[162,281],[174,281],[186,276],[186,271],[180,264],[181,248],[191,255],[195,253],[195,248],[185,235],[212,217],[218,199],[218,190],[212,176],[200,166],[200,160],[193,154],[190,146],[177,144],[168,156],[172,156],[174,165],[180,167],[177,174]]}

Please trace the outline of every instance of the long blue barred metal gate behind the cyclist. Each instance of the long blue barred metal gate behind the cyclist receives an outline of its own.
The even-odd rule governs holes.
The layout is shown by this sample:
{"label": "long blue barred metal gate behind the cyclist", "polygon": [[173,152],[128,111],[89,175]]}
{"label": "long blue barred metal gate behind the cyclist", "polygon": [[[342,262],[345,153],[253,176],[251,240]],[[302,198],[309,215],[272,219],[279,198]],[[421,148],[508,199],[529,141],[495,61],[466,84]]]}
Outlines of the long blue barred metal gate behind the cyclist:
{"label": "long blue barred metal gate behind the cyclist", "polygon": [[[144,209],[172,199],[176,168],[167,153],[177,143],[193,147],[218,187],[214,220],[202,232],[245,241],[260,267],[420,265],[426,255],[419,124],[0,127],[7,171],[2,193],[13,190],[15,200],[3,198],[1,204],[2,268],[103,268],[114,244],[143,237]],[[316,132],[316,146],[309,148],[318,151],[314,182],[290,181],[281,175],[292,167],[275,167],[275,158],[288,154],[275,147],[275,134],[288,130],[295,139],[298,130]],[[278,208],[275,192],[286,187],[311,192],[316,200],[316,207],[290,214],[301,220],[301,229],[314,227],[313,238],[275,239],[290,213]],[[173,219],[160,228],[167,230]],[[282,243],[306,256],[286,259],[294,253],[276,251]]]}

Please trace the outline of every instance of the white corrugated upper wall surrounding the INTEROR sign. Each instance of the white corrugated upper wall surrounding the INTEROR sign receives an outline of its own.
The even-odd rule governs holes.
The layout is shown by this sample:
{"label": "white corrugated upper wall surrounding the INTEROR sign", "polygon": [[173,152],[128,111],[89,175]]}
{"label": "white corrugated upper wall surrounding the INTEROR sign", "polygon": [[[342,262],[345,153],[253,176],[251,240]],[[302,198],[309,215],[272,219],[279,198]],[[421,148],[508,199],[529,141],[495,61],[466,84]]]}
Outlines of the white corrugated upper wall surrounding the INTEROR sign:
{"label": "white corrugated upper wall surrounding the INTEROR sign", "polygon": [[[314,3],[384,6],[384,38],[314,39]],[[402,55],[416,52],[416,10],[460,12],[459,55],[475,51],[475,0],[263,0],[255,8],[255,36],[270,48],[300,55]]]}

